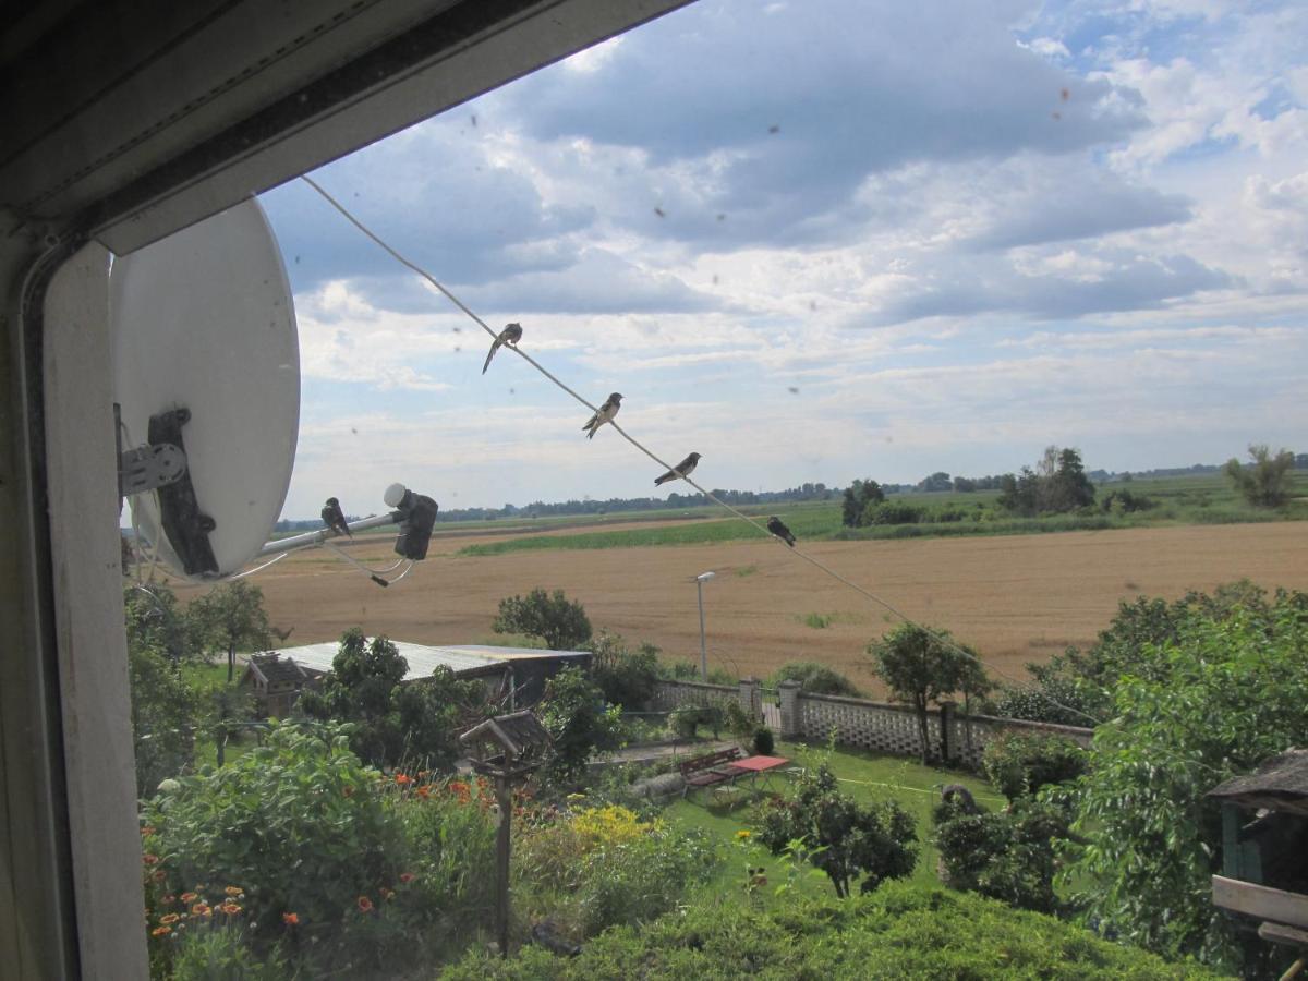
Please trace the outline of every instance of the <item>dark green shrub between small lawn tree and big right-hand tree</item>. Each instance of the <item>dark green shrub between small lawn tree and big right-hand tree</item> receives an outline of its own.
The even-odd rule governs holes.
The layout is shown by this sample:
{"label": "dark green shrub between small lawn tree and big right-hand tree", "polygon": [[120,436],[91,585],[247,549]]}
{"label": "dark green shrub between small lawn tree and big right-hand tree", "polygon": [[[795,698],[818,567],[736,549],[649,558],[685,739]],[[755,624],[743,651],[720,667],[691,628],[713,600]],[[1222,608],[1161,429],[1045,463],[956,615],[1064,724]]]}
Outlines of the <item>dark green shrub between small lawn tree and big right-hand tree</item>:
{"label": "dark green shrub between small lawn tree and big right-hand tree", "polygon": [[1008,811],[974,814],[946,800],[933,818],[947,884],[1022,909],[1056,910],[1056,848],[1067,837],[1067,816],[1058,807],[1025,798]]}

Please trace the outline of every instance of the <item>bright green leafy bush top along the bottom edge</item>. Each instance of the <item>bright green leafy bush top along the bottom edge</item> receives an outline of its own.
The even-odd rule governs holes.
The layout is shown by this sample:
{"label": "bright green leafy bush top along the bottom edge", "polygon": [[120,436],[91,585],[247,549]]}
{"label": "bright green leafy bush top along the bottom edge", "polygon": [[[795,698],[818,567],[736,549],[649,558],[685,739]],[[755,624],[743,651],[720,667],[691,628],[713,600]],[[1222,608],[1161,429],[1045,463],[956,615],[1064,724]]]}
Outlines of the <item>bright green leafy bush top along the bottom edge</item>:
{"label": "bright green leafy bush top along the bottom edge", "polygon": [[483,951],[443,981],[1205,981],[1193,964],[1096,939],[1053,917],[980,896],[887,883],[852,900],[803,899],[761,910],[704,899],[653,923],[621,926],[577,957],[523,947],[508,960]]}

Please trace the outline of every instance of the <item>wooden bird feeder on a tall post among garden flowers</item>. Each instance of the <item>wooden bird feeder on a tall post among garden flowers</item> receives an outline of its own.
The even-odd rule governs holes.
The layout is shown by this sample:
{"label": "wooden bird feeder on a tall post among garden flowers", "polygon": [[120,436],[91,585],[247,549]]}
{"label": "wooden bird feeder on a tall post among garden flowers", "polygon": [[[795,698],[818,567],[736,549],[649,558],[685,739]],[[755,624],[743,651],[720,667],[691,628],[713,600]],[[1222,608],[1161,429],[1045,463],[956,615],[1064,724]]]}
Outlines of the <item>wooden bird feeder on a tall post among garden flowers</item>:
{"label": "wooden bird feeder on a tall post among garden flowers", "polygon": [[496,832],[496,937],[500,956],[509,956],[509,821],[513,787],[522,783],[548,757],[552,740],[530,710],[494,715],[459,736],[473,753],[472,769],[489,777],[500,810]]}

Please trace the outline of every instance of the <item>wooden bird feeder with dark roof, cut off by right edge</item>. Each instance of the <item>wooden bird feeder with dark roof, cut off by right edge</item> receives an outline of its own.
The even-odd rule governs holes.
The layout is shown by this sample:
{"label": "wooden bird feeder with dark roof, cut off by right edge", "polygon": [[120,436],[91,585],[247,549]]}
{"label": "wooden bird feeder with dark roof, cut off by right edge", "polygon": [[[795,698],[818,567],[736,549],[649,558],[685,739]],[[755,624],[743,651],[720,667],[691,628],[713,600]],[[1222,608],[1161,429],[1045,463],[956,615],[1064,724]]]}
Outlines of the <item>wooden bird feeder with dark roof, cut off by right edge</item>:
{"label": "wooden bird feeder with dark roof, cut off by right edge", "polygon": [[1209,791],[1222,804],[1222,875],[1213,903],[1261,921],[1258,937],[1308,964],[1308,749],[1287,749]]}

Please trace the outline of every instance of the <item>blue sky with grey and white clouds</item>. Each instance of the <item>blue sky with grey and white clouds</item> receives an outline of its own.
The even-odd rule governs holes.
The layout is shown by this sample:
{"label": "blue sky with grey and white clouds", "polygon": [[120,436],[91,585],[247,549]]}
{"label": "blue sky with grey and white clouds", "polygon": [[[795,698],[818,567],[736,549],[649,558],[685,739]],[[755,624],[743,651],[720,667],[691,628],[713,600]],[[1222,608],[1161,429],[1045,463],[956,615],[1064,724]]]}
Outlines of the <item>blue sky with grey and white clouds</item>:
{"label": "blue sky with grey and white clouds", "polygon": [[[314,171],[705,487],[1308,450],[1308,4],[698,0]],[[302,182],[284,515],[663,496]]]}

